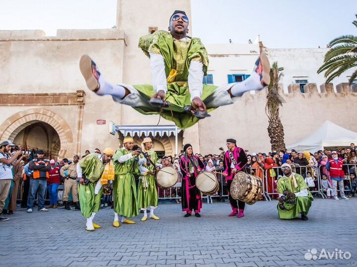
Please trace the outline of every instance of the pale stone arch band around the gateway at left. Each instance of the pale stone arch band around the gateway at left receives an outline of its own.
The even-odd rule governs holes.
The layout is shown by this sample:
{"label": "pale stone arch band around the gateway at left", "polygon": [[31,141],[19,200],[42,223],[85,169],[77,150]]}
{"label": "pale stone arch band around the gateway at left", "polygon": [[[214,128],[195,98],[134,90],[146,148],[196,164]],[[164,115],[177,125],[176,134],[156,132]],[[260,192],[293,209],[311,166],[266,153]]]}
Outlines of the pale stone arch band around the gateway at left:
{"label": "pale stone arch band around the gateway at left", "polygon": [[27,126],[36,123],[45,122],[51,125],[60,136],[60,157],[74,153],[75,146],[73,146],[73,134],[67,122],[55,112],[45,108],[33,108],[23,110],[8,117],[0,125],[0,140],[13,141],[17,134],[19,134]]}

